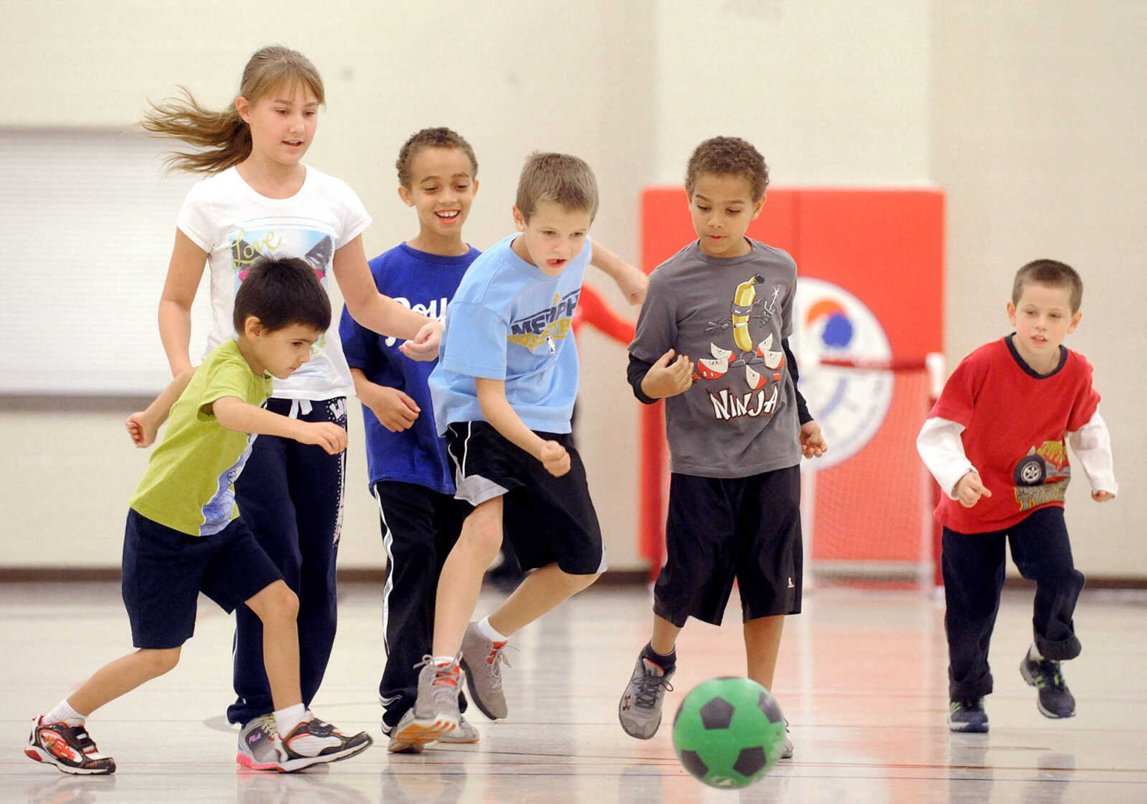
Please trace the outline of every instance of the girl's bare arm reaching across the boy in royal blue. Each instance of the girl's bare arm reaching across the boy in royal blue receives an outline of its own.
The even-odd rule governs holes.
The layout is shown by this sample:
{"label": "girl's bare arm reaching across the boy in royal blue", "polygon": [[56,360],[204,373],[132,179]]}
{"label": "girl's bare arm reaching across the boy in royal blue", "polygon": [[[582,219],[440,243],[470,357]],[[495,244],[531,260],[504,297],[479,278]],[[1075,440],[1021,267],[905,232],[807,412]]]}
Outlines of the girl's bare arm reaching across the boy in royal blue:
{"label": "girl's bare arm reaching across the boy in royal blue", "polygon": [[405,338],[399,349],[412,360],[434,360],[442,341],[442,322],[420,315],[379,292],[359,235],[335,251],[335,279],[356,321],[381,335]]}

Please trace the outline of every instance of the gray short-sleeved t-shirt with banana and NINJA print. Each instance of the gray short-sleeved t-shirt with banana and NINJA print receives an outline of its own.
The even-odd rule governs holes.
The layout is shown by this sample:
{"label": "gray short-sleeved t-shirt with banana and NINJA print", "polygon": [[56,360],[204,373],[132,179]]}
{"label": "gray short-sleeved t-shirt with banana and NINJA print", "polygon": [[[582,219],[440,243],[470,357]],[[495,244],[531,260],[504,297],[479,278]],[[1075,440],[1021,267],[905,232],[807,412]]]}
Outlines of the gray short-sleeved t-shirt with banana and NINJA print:
{"label": "gray short-sleeved t-shirt with banana and NINJA print", "polygon": [[796,263],[749,243],[743,257],[710,257],[694,241],[649,274],[630,353],[654,362],[672,348],[694,362],[693,387],[665,400],[674,473],[748,477],[801,462],[781,349],[793,331]]}

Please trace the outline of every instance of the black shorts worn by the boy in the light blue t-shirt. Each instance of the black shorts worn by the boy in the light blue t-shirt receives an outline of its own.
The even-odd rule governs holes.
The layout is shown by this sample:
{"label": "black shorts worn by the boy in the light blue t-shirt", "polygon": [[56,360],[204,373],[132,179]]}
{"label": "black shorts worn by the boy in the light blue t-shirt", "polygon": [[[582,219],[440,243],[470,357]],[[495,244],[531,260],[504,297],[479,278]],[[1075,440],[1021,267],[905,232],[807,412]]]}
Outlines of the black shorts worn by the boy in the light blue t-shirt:
{"label": "black shorts worn by the boy in the light blue t-shirt", "polygon": [[446,454],[458,493],[473,506],[501,497],[504,538],[523,570],[556,563],[568,575],[606,570],[598,513],[590,499],[582,456],[568,432],[538,432],[570,455],[570,470],[554,477],[541,462],[483,421],[446,429]]}

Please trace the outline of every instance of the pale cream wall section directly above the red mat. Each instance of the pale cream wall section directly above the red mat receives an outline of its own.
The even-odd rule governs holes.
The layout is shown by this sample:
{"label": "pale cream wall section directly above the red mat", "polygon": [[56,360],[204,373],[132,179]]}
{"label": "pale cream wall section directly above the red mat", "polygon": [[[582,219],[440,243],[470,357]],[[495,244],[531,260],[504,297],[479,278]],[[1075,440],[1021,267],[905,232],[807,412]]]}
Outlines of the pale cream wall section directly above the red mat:
{"label": "pale cream wall section directly above the red mat", "polygon": [[732,134],[777,185],[927,182],[929,22],[919,0],[660,0],[655,178]]}

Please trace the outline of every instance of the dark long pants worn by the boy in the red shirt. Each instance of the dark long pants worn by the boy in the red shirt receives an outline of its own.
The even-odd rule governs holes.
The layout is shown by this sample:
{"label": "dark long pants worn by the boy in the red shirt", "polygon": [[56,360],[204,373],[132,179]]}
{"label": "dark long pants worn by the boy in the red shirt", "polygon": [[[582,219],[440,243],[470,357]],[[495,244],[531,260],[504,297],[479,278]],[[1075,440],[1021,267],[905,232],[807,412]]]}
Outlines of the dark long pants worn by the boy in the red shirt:
{"label": "dark long pants worn by the boy in the red shirt", "polygon": [[1056,661],[1075,658],[1082,649],[1071,616],[1084,577],[1071,560],[1063,508],[1039,508],[1015,525],[989,533],[957,533],[945,528],[944,630],[949,696],[953,701],[970,701],[992,692],[988,647],[1004,588],[1005,541],[1011,544],[1020,575],[1036,581],[1031,619],[1036,648]]}

